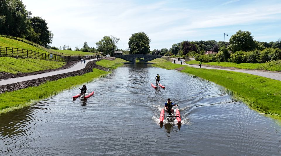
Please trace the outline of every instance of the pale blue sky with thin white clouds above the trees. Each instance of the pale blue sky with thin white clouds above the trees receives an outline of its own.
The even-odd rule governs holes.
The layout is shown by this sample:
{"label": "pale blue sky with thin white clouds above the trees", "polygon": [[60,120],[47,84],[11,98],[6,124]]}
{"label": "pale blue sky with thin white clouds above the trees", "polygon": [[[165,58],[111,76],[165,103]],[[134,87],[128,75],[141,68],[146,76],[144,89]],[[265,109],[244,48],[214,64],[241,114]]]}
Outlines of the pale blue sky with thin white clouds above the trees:
{"label": "pale blue sky with thin white clouds above the trees", "polygon": [[[181,41],[229,41],[238,30],[256,41],[281,38],[281,0],[22,0],[32,17],[46,20],[51,46],[90,47],[104,36],[128,49],[132,34],[145,32],[150,50]],[[226,35],[227,34],[227,35]]]}

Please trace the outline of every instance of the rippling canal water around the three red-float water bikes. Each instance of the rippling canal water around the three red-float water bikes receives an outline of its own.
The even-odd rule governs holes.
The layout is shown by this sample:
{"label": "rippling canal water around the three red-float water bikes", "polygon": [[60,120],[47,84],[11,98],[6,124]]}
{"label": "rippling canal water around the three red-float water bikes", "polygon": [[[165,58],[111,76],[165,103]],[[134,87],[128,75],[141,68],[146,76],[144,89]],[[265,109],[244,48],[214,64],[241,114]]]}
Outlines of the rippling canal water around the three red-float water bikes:
{"label": "rippling canal water around the three red-float water bikes", "polygon": [[[86,86],[87,100],[72,100],[81,85],[0,115],[0,155],[281,155],[273,119],[203,79],[131,64]],[[159,123],[167,98],[181,125]]]}

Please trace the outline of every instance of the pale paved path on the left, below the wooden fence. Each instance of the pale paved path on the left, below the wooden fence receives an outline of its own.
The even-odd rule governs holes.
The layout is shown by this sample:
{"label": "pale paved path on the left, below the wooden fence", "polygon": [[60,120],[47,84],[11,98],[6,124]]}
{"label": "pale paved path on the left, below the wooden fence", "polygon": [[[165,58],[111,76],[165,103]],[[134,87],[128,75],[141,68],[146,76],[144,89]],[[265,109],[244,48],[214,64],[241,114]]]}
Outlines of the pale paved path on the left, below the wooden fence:
{"label": "pale paved path on the left, below the wooden fence", "polygon": [[68,72],[74,72],[74,71],[81,70],[81,69],[85,68],[87,63],[90,62],[90,61],[93,61],[93,60],[97,60],[97,58],[86,60],[86,64],[84,64],[84,62],[83,62],[83,64],[81,64],[81,62],[79,61],[75,65],[73,65],[73,66],[71,66],[67,69],[63,69],[63,70],[57,70],[57,71],[54,71],[54,72],[45,72],[45,73],[42,73],[42,74],[36,74],[36,75],[30,75],[30,76],[24,76],[24,77],[17,77],[17,78],[2,80],[2,81],[0,81],[0,86],[6,85],[6,84],[24,82],[24,81],[33,80],[33,79],[39,79],[39,78],[42,78],[42,77],[64,74],[64,73],[68,73]]}

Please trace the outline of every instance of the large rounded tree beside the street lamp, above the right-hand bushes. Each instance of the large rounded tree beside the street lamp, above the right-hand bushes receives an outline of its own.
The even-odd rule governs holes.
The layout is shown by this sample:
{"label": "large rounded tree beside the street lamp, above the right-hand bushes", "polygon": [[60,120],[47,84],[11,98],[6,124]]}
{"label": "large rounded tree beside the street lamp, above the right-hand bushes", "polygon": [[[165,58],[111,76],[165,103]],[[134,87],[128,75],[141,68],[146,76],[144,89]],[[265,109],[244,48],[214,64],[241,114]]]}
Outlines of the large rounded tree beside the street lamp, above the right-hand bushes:
{"label": "large rounded tree beside the street lamp, above the right-hand bushes", "polygon": [[251,32],[238,30],[236,34],[229,39],[229,49],[232,53],[236,51],[251,51],[256,49],[256,43],[253,41]]}

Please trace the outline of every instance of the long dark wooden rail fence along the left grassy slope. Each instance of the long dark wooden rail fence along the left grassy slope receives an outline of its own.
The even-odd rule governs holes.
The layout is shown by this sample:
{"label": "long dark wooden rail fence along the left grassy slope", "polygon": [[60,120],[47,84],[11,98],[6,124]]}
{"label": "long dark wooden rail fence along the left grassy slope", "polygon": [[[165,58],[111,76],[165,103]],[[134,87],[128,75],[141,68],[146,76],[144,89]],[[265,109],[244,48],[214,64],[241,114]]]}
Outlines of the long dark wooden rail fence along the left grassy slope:
{"label": "long dark wooden rail fence along the left grassy slope", "polygon": [[54,60],[54,61],[76,61],[82,59],[97,58],[97,56],[60,56],[55,54],[40,53],[27,49],[10,48],[0,46],[0,56],[18,57],[18,58],[35,58],[41,60]]}

